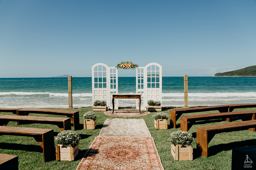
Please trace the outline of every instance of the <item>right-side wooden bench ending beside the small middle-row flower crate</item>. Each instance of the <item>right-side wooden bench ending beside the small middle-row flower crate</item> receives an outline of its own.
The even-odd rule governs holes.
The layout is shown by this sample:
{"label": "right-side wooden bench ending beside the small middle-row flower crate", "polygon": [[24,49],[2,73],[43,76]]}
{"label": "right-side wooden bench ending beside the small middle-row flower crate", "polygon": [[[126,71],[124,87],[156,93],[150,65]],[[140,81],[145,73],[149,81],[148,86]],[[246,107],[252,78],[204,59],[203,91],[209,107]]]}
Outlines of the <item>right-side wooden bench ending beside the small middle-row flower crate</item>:
{"label": "right-side wooden bench ending beside the small middle-row flower crate", "polygon": [[170,125],[176,128],[176,121],[183,113],[194,113],[194,112],[206,112],[218,110],[221,112],[228,112],[229,105],[218,105],[218,106],[204,106],[204,107],[190,107],[170,110]]}

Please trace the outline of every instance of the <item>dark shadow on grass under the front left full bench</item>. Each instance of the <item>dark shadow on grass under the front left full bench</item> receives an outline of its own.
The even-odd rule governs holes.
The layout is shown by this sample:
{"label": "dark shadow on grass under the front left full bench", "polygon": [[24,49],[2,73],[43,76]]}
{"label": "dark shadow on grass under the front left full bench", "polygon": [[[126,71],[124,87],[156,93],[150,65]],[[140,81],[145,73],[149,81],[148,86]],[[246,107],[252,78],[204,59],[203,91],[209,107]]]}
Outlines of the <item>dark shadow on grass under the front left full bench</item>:
{"label": "dark shadow on grass under the front left full bench", "polygon": [[21,151],[28,151],[28,152],[43,152],[43,148],[38,145],[32,144],[7,144],[7,143],[0,143],[1,149],[10,149],[10,150],[21,150]]}

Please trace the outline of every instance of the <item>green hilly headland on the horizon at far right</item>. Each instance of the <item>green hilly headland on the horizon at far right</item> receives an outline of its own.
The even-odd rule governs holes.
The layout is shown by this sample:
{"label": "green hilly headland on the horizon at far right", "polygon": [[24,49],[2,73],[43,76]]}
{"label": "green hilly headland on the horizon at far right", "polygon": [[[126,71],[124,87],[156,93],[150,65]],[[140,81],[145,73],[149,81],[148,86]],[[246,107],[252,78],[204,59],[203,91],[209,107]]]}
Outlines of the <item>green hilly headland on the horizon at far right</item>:
{"label": "green hilly headland on the horizon at far right", "polygon": [[240,70],[216,73],[213,77],[256,77],[256,65]]}

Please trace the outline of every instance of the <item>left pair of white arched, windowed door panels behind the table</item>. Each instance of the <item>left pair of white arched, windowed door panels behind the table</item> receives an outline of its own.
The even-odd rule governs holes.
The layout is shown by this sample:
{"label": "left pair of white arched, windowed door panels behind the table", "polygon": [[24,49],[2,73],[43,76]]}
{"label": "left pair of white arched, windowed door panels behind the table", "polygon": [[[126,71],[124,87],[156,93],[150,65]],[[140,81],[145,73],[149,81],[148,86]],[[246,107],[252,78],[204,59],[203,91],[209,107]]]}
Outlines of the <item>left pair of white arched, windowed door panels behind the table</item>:
{"label": "left pair of white arched, windowed door panels behind the table", "polygon": [[[106,100],[107,106],[112,109],[111,94],[118,93],[118,74],[115,67],[108,67],[104,63],[92,66],[92,103],[94,100]],[[118,101],[115,101],[115,109]]]}

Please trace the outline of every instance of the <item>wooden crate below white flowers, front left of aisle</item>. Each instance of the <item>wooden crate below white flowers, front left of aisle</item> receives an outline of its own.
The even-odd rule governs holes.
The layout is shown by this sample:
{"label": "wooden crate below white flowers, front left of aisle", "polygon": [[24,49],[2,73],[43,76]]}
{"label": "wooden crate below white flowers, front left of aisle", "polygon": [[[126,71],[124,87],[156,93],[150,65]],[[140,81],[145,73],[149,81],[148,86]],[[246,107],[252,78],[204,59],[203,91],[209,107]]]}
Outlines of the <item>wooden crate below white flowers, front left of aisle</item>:
{"label": "wooden crate below white flowers, front left of aisle", "polygon": [[78,145],[75,147],[69,146],[63,146],[62,144],[58,144],[56,147],[56,159],[63,161],[73,161],[76,158],[76,155],[78,154]]}

